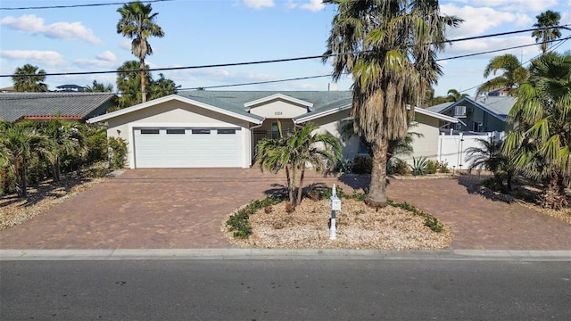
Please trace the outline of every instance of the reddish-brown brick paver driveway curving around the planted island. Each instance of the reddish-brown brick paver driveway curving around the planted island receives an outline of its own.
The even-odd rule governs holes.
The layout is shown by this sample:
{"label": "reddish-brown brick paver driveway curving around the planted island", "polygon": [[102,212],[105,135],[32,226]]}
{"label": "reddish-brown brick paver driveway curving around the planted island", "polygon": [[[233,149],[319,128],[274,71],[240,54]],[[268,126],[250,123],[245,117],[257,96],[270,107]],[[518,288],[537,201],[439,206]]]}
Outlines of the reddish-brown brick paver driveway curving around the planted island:
{"label": "reddish-brown brick paver driveway curving around the planted island", "polygon": [[[345,191],[363,179],[309,175]],[[192,249],[232,247],[220,232],[232,210],[283,184],[259,169],[127,170],[46,213],[0,232],[2,249]],[[517,204],[469,194],[454,178],[392,180],[389,197],[433,213],[453,249],[571,250],[571,226]]]}

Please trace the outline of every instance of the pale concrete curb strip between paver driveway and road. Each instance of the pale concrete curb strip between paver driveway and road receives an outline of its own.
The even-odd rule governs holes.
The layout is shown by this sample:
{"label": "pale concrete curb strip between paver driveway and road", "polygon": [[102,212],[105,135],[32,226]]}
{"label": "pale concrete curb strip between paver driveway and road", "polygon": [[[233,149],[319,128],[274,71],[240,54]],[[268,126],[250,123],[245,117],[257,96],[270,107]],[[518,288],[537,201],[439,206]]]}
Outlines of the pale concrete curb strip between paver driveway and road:
{"label": "pale concrete curb strip between paver driveway and road", "polygon": [[571,251],[274,249],[0,250],[0,260],[378,259],[571,262]]}

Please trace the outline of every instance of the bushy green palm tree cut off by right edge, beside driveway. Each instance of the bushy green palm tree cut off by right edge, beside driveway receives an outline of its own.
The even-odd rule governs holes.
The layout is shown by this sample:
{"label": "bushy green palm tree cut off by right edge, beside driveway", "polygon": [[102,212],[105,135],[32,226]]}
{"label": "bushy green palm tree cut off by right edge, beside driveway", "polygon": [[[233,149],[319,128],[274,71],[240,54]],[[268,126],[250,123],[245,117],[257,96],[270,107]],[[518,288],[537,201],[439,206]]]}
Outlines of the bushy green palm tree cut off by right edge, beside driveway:
{"label": "bushy green palm tree cut off by right edge, beside driveway", "polygon": [[545,53],[531,62],[530,78],[517,90],[509,120],[517,124],[504,152],[526,177],[541,179],[544,206],[569,205],[571,181],[571,53]]}

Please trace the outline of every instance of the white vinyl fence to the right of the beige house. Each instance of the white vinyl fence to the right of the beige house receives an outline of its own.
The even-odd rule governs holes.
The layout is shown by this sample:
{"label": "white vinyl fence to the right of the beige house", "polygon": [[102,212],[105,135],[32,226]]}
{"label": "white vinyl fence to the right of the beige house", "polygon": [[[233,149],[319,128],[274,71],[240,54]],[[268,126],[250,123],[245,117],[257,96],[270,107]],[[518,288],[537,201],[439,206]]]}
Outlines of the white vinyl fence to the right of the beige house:
{"label": "white vinyl fence to the right of the beige house", "polygon": [[441,132],[438,138],[438,161],[448,164],[449,169],[468,169],[466,150],[470,147],[482,147],[476,139],[503,139],[503,132],[459,133]]}

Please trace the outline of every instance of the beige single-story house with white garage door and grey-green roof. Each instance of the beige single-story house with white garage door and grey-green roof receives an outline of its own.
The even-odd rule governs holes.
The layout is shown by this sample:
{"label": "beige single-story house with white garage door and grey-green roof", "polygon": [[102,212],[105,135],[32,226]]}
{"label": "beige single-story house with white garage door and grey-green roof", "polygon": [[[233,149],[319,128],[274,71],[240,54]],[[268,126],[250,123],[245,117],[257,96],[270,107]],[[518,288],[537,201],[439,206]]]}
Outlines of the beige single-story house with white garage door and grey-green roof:
{"label": "beige single-story house with white garage door and grey-green roof", "polygon": [[[342,120],[350,118],[348,91],[192,91],[180,92],[120,111],[88,119],[106,122],[107,135],[125,139],[128,167],[136,168],[249,168],[256,143],[278,137],[294,126],[313,122],[319,130],[341,136]],[[417,109],[424,135],[415,153],[437,158],[440,121],[449,116]],[[343,155],[359,151],[359,139],[342,142]]]}

